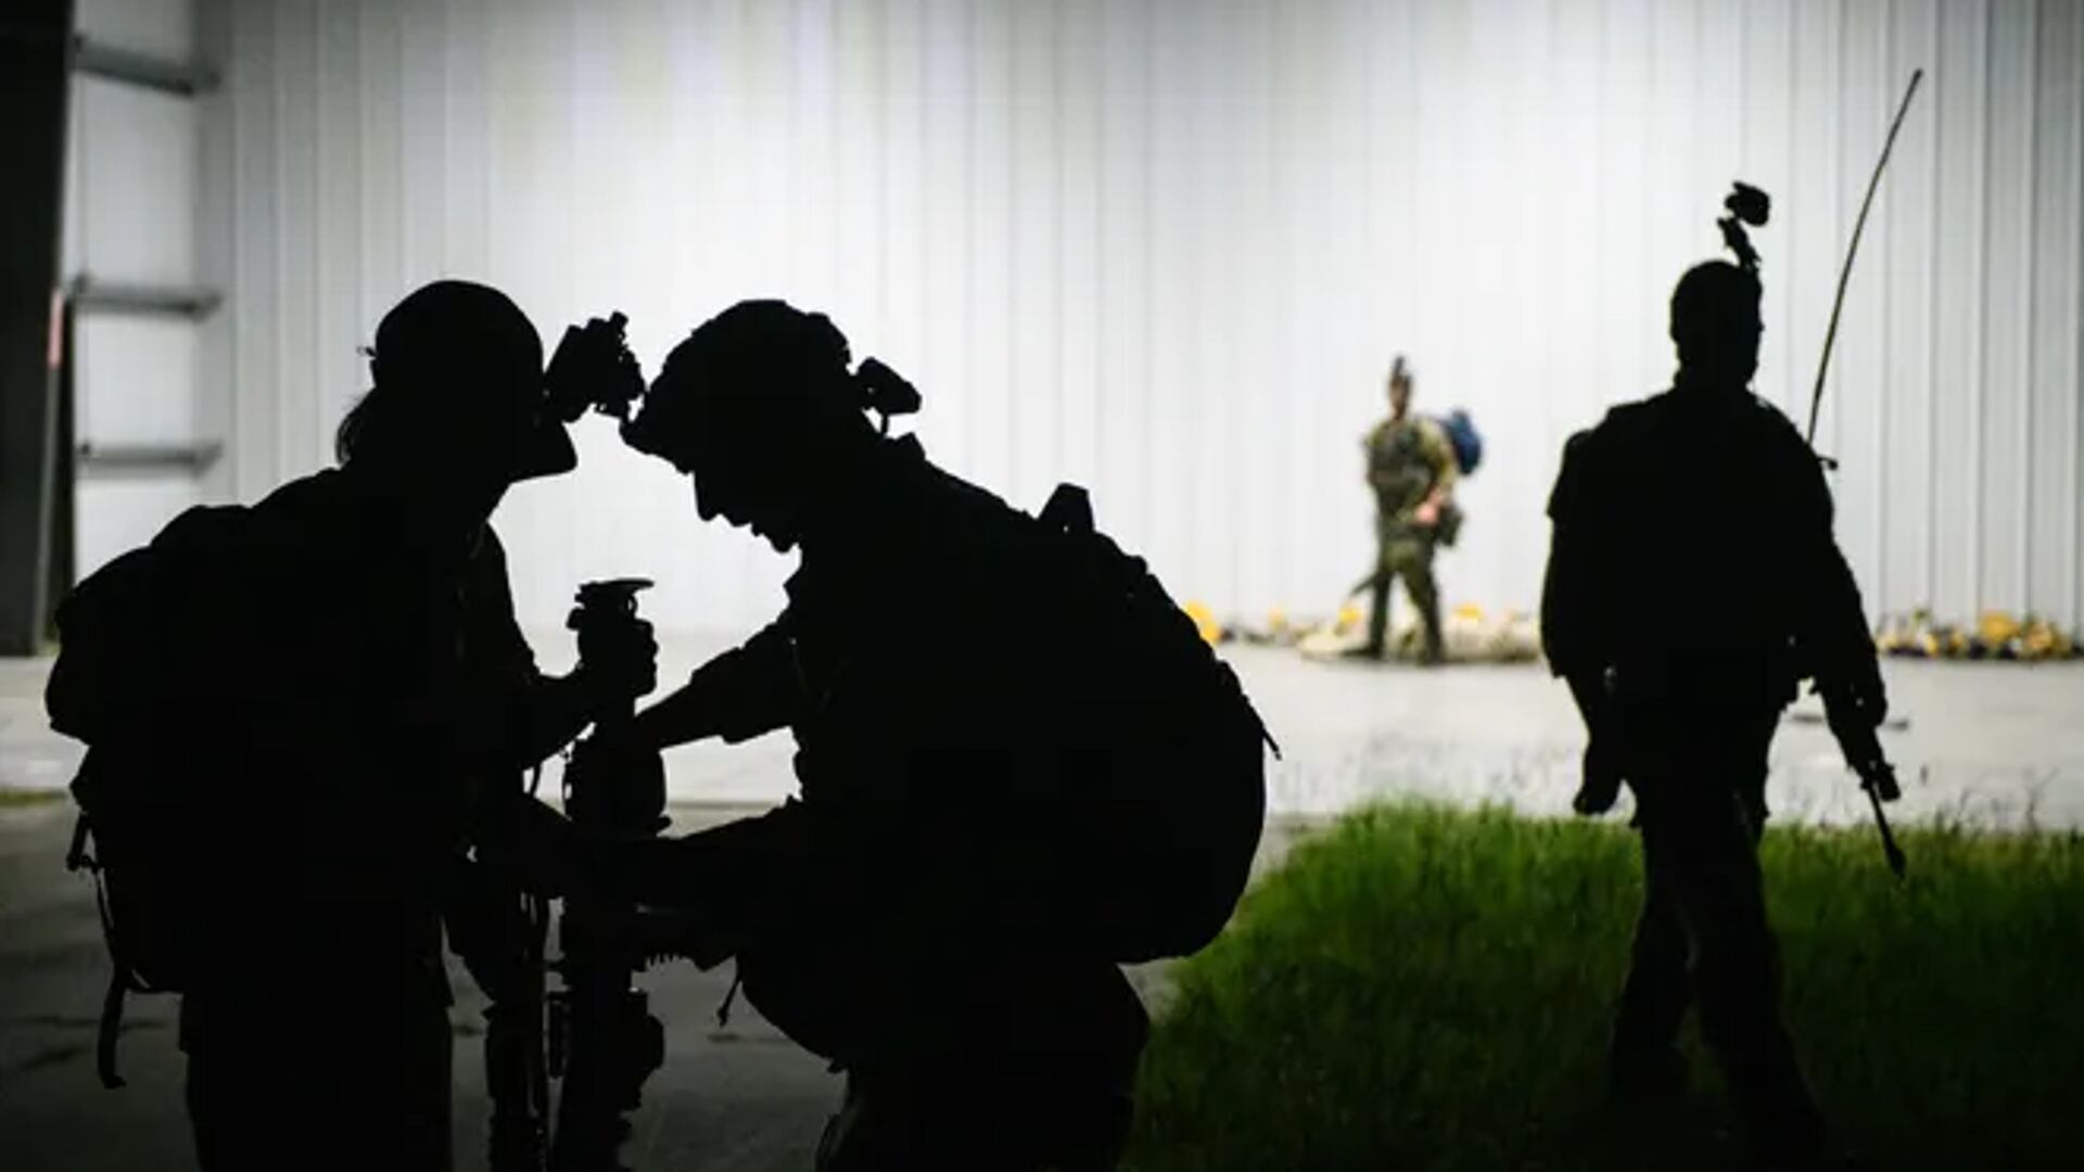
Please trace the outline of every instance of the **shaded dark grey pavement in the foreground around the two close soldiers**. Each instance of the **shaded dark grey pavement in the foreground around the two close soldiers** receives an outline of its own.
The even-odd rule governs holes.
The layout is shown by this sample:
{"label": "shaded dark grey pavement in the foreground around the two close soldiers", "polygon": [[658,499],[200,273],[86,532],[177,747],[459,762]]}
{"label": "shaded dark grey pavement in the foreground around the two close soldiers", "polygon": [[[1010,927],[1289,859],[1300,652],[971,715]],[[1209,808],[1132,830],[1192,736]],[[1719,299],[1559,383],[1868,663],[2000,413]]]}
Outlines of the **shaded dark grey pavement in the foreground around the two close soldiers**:
{"label": "shaded dark grey pavement in the foreground around the two close soldiers", "polygon": [[[713,826],[748,809],[675,807],[675,830]],[[0,805],[0,1168],[6,1172],[185,1172],[194,1168],[181,1114],[181,1055],[171,997],[138,997],[125,1016],[121,1066],[129,1086],[102,1091],[94,1030],[108,963],[88,880],[63,870],[71,807]],[[1302,828],[1273,826],[1271,861]],[[486,1166],[488,1120],[479,1039],[483,999],[450,966],[456,1009],[458,1172]],[[675,963],[646,974],[652,1011],[667,1024],[667,1064],[644,1091],[634,1141],[642,1172],[800,1172],[840,1080],[761,1020],[744,999],[727,1028],[715,1009],[729,966],[702,974]],[[286,974],[288,978],[290,974]],[[1130,978],[1152,1007],[1157,968]],[[313,1007],[313,1014],[323,1007]],[[292,1039],[296,1022],[283,1022]],[[296,1162],[286,1159],[286,1170]]]}

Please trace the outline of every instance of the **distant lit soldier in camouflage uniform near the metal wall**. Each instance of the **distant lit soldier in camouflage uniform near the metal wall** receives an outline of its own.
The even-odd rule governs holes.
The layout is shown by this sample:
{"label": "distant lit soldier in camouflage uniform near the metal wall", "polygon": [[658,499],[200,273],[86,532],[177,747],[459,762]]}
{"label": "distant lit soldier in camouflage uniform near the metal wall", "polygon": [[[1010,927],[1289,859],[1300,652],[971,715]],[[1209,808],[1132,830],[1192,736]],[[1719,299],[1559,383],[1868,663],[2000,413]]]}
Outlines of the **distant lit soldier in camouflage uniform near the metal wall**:
{"label": "distant lit soldier in camouflage uniform near the metal wall", "polygon": [[1423,663],[1440,663],[1440,588],[1432,559],[1459,467],[1446,430],[1434,419],[1411,415],[1411,371],[1403,357],[1390,367],[1390,417],[1367,434],[1363,446],[1367,484],[1375,490],[1375,576],[1369,582],[1367,642],[1355,655],[1382,659],[1390,584],[1403,578],[1425,626]]}

